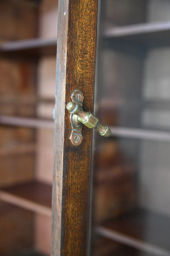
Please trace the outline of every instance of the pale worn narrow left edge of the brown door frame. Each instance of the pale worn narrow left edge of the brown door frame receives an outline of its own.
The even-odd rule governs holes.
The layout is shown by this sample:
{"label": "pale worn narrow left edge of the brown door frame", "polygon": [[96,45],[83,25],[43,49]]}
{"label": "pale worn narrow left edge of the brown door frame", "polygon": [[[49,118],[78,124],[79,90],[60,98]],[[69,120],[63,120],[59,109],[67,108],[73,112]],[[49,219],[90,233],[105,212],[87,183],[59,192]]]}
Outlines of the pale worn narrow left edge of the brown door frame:
{"label": "pale worn narrow left edge of the brown door frame", "polygon": [[58,39],[54,119],[54,167],[51,216],[51,255],[60,255],[65,125],[65,81],[69,0],[58,2]]}

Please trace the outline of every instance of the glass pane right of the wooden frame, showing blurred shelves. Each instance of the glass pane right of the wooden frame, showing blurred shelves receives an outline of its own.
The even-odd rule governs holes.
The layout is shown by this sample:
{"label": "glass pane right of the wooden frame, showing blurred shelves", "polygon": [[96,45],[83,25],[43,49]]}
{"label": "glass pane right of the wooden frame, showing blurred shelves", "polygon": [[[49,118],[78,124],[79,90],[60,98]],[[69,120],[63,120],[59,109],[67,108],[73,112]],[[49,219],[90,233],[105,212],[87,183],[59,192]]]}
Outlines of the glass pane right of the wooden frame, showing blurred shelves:
{"label": "glass pane right of the wooden frame, showing blurred shelves", "polygon": [[[170,255],[170,0],[101,0],[92,255]],[[169,45],[168,45],[169,44]]]}

